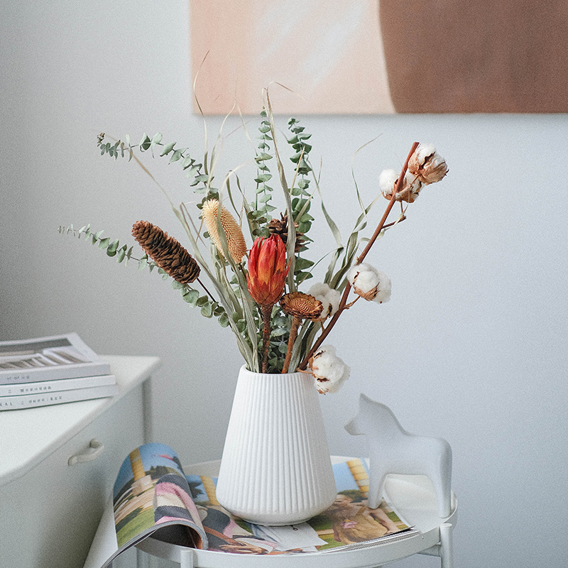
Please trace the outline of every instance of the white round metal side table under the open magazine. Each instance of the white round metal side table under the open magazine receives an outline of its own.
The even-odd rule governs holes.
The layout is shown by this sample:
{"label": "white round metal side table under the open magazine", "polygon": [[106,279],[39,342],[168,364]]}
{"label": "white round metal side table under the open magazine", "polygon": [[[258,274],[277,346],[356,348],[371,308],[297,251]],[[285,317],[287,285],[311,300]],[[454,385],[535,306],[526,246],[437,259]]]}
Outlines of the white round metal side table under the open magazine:
{"label": "white round metal side table under the open magazine", "polygon": [[[332,461],[344,461],[332,457]],[[217,476],[220,460],[184,466],[185,474]],[[349,550],[301,552],[274,556],[239,555],[212,550],[196,550],[170,545],[151,537],[139,542],[138,564],[144,565],[144,553],[180,564],[180,568],[371,568],[415,554],[437,556],[442,568],[453,568],[452,530],[457,523],[457,499],[452,493],[452,513],[438,516],[437,498],[430,481],[423,476],[388,476],[385,487],[388,501],[412,532],[393,535]],[[143,551],[143,552],[141,552]]]}

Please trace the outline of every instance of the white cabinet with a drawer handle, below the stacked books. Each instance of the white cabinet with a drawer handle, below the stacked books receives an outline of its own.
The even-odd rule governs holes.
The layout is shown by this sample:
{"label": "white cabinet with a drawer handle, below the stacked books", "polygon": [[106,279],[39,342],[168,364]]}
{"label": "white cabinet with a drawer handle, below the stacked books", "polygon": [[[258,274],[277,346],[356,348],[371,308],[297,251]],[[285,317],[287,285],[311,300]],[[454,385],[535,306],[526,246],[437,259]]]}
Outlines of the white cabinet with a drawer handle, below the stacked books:
{"label": "white cabinet with a drawer handle, below the stacked books", "polygon": [[[82,567],[124,457],[148,441],[148,378],[159,359],[105,359],[118,395],[0,413],[1,566]],[[103,451],[70,466],[72,456],[98,454],[91,440]]]}

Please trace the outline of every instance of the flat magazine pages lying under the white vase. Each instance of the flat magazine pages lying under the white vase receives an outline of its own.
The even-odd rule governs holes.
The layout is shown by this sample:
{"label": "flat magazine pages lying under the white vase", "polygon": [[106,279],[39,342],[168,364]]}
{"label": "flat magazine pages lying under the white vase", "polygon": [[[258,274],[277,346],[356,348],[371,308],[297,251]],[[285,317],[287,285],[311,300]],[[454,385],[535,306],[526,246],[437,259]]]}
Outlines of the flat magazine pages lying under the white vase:
{"label": "flat magazine pages lying under the white vase", "polygon": [[368,546],[410,530],[385,501],[377,509],[366,506],[368,469],[364,459],[350,459],[334,464],[333,468],[337,498],[332,506],[307,523],[284,527],[253,525],[234,517],[217,501],[216,478],[186,476],[200,510],[209,550],[249,555],[324,552],[338,547]]}

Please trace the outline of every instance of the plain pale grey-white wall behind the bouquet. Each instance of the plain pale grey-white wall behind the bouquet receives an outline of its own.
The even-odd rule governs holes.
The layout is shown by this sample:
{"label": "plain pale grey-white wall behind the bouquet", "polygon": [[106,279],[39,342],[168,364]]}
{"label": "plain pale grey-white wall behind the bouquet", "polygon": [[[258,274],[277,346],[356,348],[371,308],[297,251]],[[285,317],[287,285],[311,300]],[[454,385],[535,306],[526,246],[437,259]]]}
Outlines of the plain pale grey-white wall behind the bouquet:
{"label": "plain pale grey-white wall behind the bouquet", "polygon": [[[231,332],[157,276],[57,232],[90,222],[131,242],[133,222],[148,219],[182,240],[150,178],[101,157],[96,136],[161,131],[200,153],[187,1],[0,6],[0,339],[75,330],[103,354],[161,356],[155,440],[185,461],[219,457],[241,364]],[[415,140],[435,143],[450,168],[368,257],[391,275],[391,302],[356,305],[330,337],[352,369],[339,395],[322,398],[330,449],[365,452],[343,424],[367,393],[411,432],[452,444],[458,566],[564,566],[567,116],[300,119],[344,234],[356,216],[351,158],[366,141],[381,135],[354,163],[366,201]],[[220,119],[208,124],[216,134]],[[226,141],[220,175],[250,158],[243,140]],[[146,165],[176,199],[192,199],[175,165]],[[323,252],[332,241],[319,219]]]}

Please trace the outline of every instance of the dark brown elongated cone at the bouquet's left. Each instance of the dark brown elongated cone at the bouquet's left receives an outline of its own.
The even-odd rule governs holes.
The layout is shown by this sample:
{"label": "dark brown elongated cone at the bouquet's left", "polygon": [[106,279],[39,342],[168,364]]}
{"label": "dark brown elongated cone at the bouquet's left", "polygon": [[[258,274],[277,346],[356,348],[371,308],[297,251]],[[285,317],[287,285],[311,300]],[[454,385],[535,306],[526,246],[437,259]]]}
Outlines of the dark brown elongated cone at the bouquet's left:
{"label": "dark brown elongated cone at the bouquet's left", "polygon": [[132,226],[132,235],[156,265],[179,283],[192,283],[200,275],[195,258],[159,226],[138,221]]}

